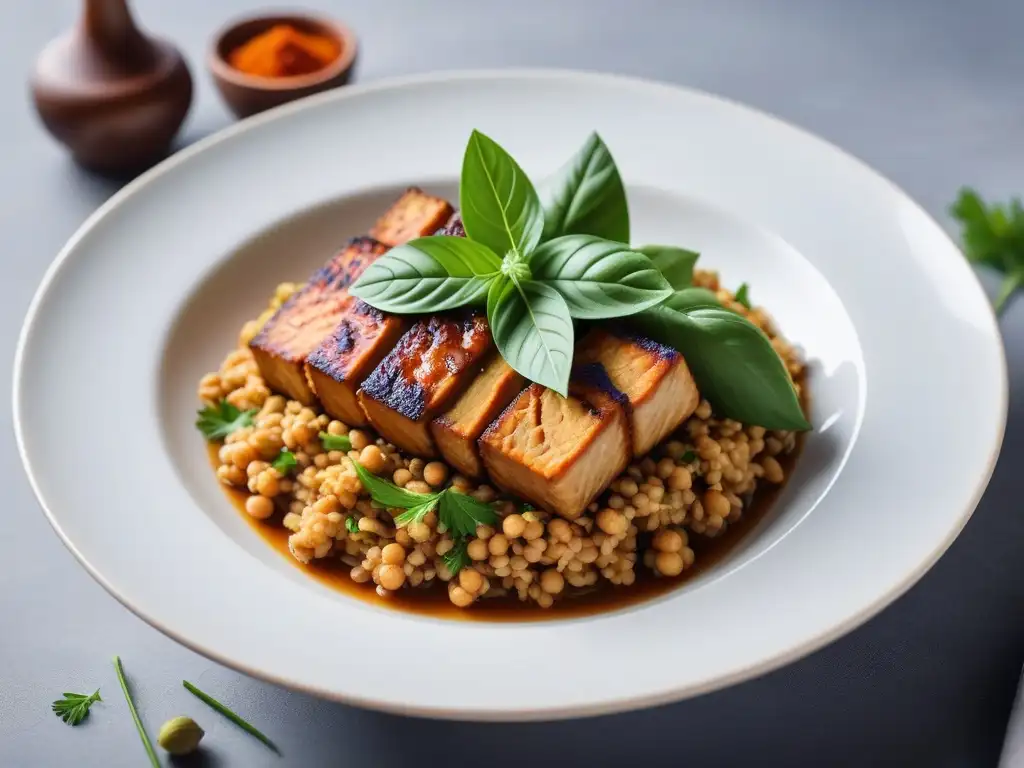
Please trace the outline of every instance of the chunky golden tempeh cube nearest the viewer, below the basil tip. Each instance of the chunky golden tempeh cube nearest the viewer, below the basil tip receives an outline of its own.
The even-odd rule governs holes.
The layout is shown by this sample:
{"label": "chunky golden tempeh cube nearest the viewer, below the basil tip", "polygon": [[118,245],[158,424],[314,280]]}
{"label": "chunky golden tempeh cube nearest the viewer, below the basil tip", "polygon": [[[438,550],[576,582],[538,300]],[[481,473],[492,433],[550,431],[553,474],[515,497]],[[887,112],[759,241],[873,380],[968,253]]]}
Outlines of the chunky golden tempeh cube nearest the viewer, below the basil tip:
{"label": "chunky golden tempeh cube nearest the viewer, below the basil tip", "polygon": [[568,397],[531,384],[480,437],[483,465],[499,487],[574,519],[629,464],[626,407],[597,364],[573,369]]}

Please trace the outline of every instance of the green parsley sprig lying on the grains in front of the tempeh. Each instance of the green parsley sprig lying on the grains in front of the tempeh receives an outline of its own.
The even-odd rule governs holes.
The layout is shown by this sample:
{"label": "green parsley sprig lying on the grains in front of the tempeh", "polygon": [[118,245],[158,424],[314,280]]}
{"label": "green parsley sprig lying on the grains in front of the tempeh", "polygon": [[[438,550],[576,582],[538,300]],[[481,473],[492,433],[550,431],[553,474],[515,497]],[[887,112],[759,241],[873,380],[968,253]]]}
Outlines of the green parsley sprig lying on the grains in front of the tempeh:
{"label": "green parsley sprig lying on the grains in front of the tempeh", "polygon": [[[460,494],[454,487],[430,494],[415,494],[378,477],[358,462],[352,462],[352,465],[362,486],[377,504],[387,509],[404,510],[394,517],[394,524],[398,527],[419,522],[427,514],[437,510],[438,520],[455,540],[455,549],[450,551],[454,554],[444,557],[444,563],[453,575],[468,563],[466,557],[459,554],[465,549],[466,537],[473,536],[477,525],[494,525],[498,522],[498,513],[493,505],[467,494]],[[460,547],[463,549],[459,550]]]}

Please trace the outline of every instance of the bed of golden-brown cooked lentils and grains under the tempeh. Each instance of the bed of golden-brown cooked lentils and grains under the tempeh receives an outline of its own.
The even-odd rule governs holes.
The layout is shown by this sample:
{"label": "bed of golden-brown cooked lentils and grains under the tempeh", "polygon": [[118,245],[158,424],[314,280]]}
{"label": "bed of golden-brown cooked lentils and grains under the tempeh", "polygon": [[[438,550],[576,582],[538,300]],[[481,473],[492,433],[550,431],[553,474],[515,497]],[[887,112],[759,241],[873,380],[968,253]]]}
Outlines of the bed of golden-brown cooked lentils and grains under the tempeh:
{"label": "bed of golden-brown cooked lentils and grains under the tempeh", "polygon": [[[697,270],[694,285],[714,291],[723,306],[769,336],[801,392],[804,365],[768,314],[736,302],[714,272]],[[314,408],[272,394],[248,343],[297,288],[279,286],[267,309],[243,327],[239,347],[217,372],[200,380],[204,402],[226,399],[240,409],[258,409],[252,426],[224,439],[216,475],[250,494],[245,510],[253,518],[270,520],[281,512],[274,519],[290,531],[288,547],[296,560],[344,563],[352,582],[372,582],[382,598],[440,582],[459,607],[507,599],[547,608],[599,582],[631,585],[638,567],[678,577],[694,564],[692,537],[721,535],[750,507],[760,480],[779,484],[785,479],[779,458],[796,450],[796,433],[716,419],[705,400],[674,435],[634,461],[580,519],[521,511],[515,500],[453,473],[442,462],[403,456],[369,429],[350,429]],[[322,431],[347,434],[351,450],[326,451]],[[271,466],[282,450],[295,455],[294,476]],[[444,555],[455,542],[438,525],[436,513],[396,527],[390,511],[371,504],[353,461],[414,493],[433,493],[451,482],[482,502],[496,502],[499,529],[477,527],[466,546],[470,564],[453,578]],[[346,525],[349,517],[354,531]]]}

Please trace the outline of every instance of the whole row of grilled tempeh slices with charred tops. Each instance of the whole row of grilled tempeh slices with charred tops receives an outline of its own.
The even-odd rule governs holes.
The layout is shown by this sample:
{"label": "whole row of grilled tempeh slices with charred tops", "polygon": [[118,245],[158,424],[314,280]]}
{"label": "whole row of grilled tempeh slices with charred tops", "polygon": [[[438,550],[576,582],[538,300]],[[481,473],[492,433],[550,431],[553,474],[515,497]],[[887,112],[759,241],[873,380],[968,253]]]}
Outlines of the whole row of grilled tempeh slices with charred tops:
{"label": "whole row of grilled tempeh slices with charred tops", "polygon": [[[465,236],[452,207],[407,190],[270,318],[251,346],[270,386],[402,451],[569,519],[634,456],[699,402],[676,350],[591,330],[577,345],[569,396],[529,384],[494,348],[482,310],[398,317],[347,288],[388,248],[430,233]],[[527,386],[528,385],[528,386]],[[525,388],[524,388],[525,387]]]}

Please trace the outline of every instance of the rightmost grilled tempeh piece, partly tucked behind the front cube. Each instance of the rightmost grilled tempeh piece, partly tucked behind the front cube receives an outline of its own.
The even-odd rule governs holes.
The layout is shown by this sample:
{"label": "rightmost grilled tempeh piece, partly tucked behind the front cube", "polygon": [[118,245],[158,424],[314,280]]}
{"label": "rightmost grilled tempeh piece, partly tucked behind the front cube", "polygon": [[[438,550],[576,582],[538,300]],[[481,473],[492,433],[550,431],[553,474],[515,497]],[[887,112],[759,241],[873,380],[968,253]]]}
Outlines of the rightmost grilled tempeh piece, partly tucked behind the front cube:
{"label": "rightmost grilled tempeh piece, partly tucked behind the front cube", "polygon": [[629,398],[634,456],[654,447],[700,402],[683,356],[643,336],[594,329],[577,346],[575,362],[600,362]]}

